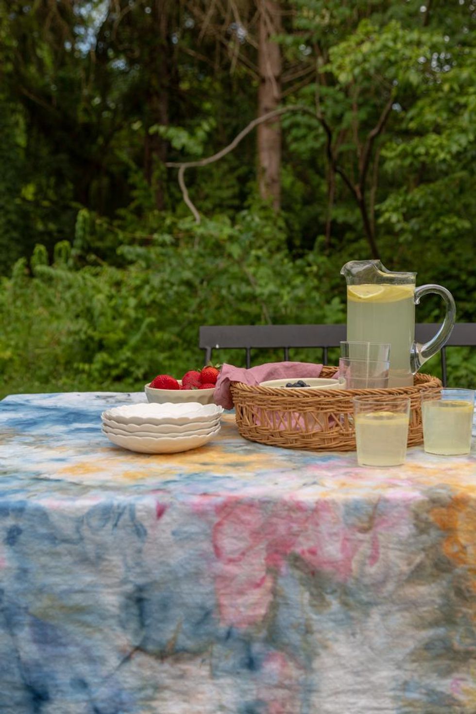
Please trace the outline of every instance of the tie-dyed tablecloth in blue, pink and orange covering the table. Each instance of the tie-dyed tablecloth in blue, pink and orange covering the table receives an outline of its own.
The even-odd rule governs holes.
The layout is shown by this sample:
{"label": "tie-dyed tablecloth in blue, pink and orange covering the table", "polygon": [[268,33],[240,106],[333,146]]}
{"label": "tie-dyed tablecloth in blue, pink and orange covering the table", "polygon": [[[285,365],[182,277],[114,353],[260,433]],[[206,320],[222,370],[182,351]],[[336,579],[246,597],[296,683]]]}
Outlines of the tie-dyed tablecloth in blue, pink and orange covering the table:
{"label": "tie-dyed tablecloth in blue, pink and orange covering the table", "polygon": [[0,403],[1,714],[475,714],[476,458],[101,434]]}

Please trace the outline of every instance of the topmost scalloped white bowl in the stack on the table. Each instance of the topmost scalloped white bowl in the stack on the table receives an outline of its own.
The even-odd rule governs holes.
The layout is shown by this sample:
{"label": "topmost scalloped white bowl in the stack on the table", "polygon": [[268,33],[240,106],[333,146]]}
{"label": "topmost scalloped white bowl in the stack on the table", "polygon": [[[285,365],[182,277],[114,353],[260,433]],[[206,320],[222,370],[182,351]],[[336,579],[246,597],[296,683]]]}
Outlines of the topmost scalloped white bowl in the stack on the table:
{"label": "topmost scalloped white bowl in the stack on the table", "polygon": [[123,404],[106,409],[101,418],[117,421],[121,424],[190,424],[195,421],[213,421],[223,413],[223,407],[218,404],[185,404],[139,403]]}

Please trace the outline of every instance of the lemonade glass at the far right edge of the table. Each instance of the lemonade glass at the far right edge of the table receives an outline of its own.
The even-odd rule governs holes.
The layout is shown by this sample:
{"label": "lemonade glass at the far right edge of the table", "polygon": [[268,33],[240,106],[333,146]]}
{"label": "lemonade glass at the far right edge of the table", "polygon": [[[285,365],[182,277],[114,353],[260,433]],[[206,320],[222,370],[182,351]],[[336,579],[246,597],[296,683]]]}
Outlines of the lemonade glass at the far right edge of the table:
{"label": "lemonade glass at the far right edge of the table", "polygon": [[475,392],[441,389],[422,392],[423,442],[427,453],[457,456],[470,453]]}

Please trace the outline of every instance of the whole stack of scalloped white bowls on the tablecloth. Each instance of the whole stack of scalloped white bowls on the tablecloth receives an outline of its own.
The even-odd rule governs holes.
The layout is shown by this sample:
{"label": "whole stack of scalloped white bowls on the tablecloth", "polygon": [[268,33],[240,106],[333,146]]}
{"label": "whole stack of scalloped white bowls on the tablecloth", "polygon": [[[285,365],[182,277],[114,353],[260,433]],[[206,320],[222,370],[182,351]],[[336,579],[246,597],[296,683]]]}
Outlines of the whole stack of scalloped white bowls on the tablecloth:
{"label": "whole stack of scalloped white bowls on the tablecloth", "polygon": [[220,431],[223,407],[216,404],[127,404],[101,414],[103,433],[141,453],[177,453],[198,448]]}

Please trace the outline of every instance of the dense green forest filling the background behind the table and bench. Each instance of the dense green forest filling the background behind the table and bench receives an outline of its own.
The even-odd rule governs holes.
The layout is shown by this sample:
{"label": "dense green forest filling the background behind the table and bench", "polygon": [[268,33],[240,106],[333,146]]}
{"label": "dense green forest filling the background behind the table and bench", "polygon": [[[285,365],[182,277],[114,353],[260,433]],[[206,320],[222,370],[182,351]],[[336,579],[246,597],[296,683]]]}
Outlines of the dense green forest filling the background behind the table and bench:
{"label": "dense green forest filling the background behind the table and bench", "polygon": [[[202,324],[344,322],[350,259],[417,271],[475,321],[475,19],[475,0],[0,0],[0,396],[180,376]],[[448,352],[474,387],[474,351]]]}

